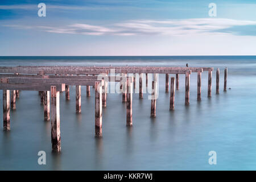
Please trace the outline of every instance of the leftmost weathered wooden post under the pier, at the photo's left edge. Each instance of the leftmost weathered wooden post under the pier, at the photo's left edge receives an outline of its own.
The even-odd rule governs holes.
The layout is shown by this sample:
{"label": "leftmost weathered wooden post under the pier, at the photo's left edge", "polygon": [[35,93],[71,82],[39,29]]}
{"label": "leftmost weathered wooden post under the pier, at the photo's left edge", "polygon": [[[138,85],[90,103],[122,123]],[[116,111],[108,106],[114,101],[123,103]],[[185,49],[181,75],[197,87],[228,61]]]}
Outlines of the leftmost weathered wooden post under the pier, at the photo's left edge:
{"label": "leftmost weathered wooden post under the pier, at the photo's left edge", "polygon": [[3,130],[10,129],[10,90],[3,90]]}

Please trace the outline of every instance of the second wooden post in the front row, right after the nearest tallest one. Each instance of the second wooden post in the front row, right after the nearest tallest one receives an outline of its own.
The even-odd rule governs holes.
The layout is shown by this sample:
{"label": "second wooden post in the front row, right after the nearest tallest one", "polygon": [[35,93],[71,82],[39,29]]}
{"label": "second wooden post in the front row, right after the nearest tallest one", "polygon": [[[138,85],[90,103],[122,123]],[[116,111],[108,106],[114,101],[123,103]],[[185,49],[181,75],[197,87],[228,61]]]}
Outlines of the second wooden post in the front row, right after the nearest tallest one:
{"label": "second wooden post in the front row, right after the nearest tallest one", "polygon": [[95,82],[95,137],[102,137],[102,86]]}

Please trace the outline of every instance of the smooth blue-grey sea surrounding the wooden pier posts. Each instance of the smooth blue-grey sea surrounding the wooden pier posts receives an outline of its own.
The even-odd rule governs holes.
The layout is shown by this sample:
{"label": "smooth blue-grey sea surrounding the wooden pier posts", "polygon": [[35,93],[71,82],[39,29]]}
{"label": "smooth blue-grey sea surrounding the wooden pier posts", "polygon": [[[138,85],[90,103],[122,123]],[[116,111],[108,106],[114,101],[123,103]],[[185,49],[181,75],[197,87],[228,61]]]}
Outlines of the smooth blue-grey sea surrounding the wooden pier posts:
{"label": "smooth blue-grey sea surrounding the wooden pier posts", "polygon": [[[197,102],[197,74],[192,73],[190,105],[185,106],[185,78],[181,75],[175,111],[170,111],[170,93],[164,92],[165,76],[160,75],[156,118],[150,118],[147,94],[143,100],[134,94],[133,127],[127,128],[121,94],[108,94],[101,139],[94,138],[94,90],[86,97],[82,86],[81,114],[75,113],[75,86],[70,88],[70,101],[61,93],[60,155],[51,152],[51,123],[43,120],[38,92],[20,92],[16,110],[11,111],[11,131],[0,131],[0,170],[255,170],[256,56],[0,57],[0,66],[184,67],[186,63],[214,67],[211,98],[207,97],[208,73],[204,72],[202,100]],[[225,67],[228,92],[223,92]],[[216,68],[220,68],[219,95],[215,94]],[[2,90],[0,95],[2,106]],[[46,151],[47,164],[39,166],[41,150]],[[209,151],[217,152],[216,165],[209,165]]]}

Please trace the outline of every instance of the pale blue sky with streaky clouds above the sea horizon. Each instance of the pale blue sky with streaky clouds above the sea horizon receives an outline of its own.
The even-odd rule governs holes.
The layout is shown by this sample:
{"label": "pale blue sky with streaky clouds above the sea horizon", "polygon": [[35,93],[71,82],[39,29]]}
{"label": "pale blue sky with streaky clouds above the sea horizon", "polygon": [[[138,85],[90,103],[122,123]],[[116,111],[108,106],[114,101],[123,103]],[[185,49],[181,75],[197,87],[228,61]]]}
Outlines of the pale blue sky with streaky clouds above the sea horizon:
{"label": "pale blue sky with streaky clouds above the sea horizon", "polygon": [[256,1],[0,1],[0,56],[189,55],[256,55]]}

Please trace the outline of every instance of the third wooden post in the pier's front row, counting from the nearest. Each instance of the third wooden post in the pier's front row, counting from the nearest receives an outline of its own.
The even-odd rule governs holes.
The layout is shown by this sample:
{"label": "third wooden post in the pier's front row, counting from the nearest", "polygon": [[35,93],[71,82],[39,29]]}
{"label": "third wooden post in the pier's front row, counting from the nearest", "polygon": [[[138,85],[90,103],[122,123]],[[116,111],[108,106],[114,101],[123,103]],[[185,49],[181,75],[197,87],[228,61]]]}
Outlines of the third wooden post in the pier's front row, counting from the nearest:
{"label": "third wooden post in the pier's front row, counting from the nearest", "polygon": [[126,126],[133,126],[133,82],[127,78]]}

